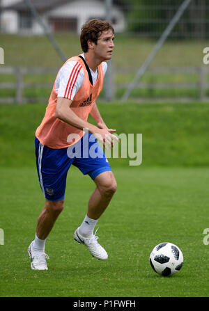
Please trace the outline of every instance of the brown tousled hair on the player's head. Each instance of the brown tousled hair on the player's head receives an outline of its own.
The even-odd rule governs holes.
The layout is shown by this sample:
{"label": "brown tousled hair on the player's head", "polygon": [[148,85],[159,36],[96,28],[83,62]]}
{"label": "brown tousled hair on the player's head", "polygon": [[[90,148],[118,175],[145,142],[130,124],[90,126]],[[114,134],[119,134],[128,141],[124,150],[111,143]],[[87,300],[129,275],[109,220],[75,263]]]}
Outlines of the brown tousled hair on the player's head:
{"label": "brown tousled hair on the player's head", "polygon": [[114,28],[111,23],[107,20],[102,21],[101,19],[90,19],[82,26],[82,33],[80,35],[80,42],[84,53],[88,51],[88,40],[93,41],[95,44],[98,42],[98,38],[102,31],[111,29],[114,33]]}

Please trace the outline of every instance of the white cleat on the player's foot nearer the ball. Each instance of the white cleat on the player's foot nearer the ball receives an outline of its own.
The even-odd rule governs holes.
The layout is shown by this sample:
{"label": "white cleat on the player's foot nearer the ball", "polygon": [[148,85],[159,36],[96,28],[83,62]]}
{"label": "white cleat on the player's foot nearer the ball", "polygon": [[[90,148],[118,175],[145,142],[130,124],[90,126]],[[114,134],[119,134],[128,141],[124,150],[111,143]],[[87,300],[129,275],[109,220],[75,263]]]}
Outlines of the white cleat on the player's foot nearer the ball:
{"label": "white cleat on the player's foot nearer the ball", "polygon": [[[98,229],[95,231],[95,234]],[[93,255],[93,257],[96,257],[99,260],[107,260],[107,252],[104,250],[104,248],[102,248],[102,246],[100,246],[100,244],[98,244],[98,237],[96,237],[95,234],[93,234],[91,238],[82,237],[82,235],[79,234],[79,228],[77,228],[73,236],[75,241],[77,241],[79,244],[84,244],[88,247],[88,250],[90,251],[91,255]]]}

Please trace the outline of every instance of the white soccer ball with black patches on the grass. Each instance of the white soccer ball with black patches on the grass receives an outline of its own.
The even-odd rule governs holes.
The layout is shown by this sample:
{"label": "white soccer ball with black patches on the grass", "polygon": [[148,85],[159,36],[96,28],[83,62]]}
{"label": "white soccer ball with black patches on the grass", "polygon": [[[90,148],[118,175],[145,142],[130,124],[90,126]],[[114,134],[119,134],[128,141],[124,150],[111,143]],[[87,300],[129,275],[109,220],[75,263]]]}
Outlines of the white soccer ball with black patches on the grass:
{"label": "white soccer ball with black patches on the grass", "polygon": [[160,243],[150,253],[150,265],[162,276],[170,276],[183,266],[183,253],[175,244]]}

